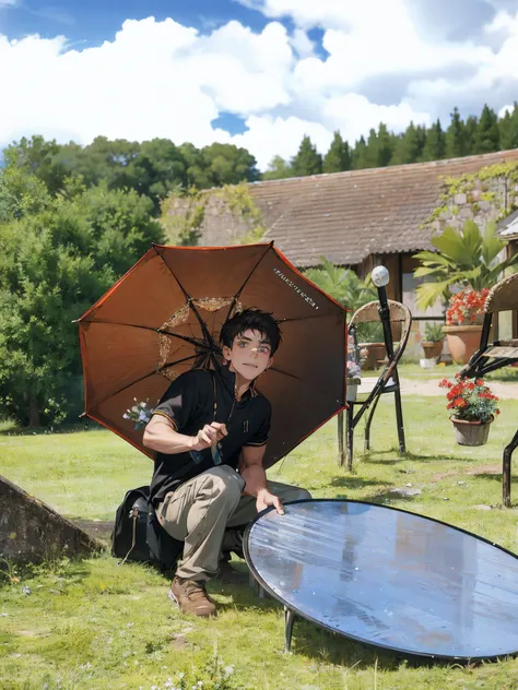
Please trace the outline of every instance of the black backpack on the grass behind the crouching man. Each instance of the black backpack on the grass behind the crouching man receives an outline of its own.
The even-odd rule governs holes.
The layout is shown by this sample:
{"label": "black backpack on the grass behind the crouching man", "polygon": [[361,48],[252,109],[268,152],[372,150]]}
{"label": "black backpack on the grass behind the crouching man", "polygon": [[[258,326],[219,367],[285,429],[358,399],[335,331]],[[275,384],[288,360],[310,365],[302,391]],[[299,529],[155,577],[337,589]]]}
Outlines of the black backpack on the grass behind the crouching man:
{"label": "black backpack on the grass behind the crouching man", "polygon": [[161,571],[170,570],[184,549],[156,519],[150,499],[150,487],[131,489],[115,514],[111,554],[126,561],[152,563]]}

